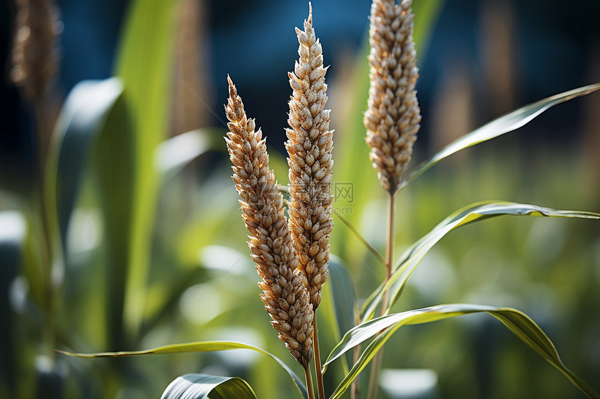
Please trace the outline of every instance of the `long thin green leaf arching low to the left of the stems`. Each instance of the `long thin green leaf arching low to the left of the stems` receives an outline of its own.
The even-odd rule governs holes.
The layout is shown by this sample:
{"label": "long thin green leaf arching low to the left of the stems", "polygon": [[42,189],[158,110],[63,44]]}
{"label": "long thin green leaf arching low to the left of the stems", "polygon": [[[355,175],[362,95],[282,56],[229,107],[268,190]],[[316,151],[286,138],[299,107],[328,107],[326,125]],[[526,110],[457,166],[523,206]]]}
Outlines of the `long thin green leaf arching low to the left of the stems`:
{"label": "long thin green leaf arching low to the left of the stems", "polygon": [[164,345],[159,347],[154,347],[148,350],[136,350],[132,352],[100,352],[100,353],[73,353],[66,352],[63,350],[57,350],[57,352],[66,354],[68,356],[75,357],[130,357],[130,356],[142,356],[146,354],[170,354],[170,353],[190,353],[190,352],[216,352],[219,350],[234,350],[234,349],[249,349],[254,350],[255,352],[259,352],[267,355],[277,363],[281,367],[284,368],[285,371],[292,377],[292,381],[296,384],[298,391],[300,392],[303,398],[308,398],[308,393],[306,391],[306,387],[302,383],[302,380],[294,373],[294,371],[289,368],[281,359],[276,357],[275,355],[267,352],[266,350],[260,349],[260,347],[255,347],[252,345],[247,345],[245,343],[233,342],[233,341],[202,341],[202,342],[192,342],[192,343],[178,343],[173,345]]}

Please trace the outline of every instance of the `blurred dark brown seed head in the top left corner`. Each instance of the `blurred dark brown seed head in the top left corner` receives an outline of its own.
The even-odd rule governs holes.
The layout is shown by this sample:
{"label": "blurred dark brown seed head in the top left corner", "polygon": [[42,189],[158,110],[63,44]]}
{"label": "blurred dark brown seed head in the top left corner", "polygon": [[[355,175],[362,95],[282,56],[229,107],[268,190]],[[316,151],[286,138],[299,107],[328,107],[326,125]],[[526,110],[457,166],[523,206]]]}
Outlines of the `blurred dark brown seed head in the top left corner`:
{"label": "blurred dark brown seed head in the top left corner", "polygon": [[17,0],[10,80],[39,100],[57,72],[58,8],[52,0]]}

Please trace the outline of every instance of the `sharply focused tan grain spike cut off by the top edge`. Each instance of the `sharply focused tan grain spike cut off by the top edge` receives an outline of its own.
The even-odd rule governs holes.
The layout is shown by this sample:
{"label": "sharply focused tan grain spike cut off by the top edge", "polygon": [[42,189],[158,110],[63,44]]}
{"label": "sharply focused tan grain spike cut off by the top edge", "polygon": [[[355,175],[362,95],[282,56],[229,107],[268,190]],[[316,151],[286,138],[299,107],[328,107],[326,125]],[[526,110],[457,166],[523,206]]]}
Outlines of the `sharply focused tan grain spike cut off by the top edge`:
{"label": "sharply focused tan grain spike cut off by the top edge", "polygon": [[421,122],[411,5],[412,0],[373,0],[370,15],[370,89],[363,122],[370,160],[392,194],[400,187]]}

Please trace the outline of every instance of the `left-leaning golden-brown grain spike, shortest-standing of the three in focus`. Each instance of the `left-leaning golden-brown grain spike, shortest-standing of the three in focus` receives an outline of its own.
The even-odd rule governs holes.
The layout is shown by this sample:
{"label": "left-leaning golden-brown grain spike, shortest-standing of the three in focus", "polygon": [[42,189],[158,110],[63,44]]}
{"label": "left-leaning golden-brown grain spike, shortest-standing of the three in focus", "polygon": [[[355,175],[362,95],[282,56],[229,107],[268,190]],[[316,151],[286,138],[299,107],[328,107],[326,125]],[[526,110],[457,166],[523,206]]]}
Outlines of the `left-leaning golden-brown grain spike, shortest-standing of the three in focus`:
{"label": "left-leaning golden-brown grain spike, shortest-standing of the three in focus", "polygon": [[241,197],[242,218],[250,231],[248,247],[262,282],[260,298],[279,338],[304,367],[313,357],[313,306],[306,278],[297,270],[298,260],[287,227],[283,196],[275,174],[269,169],[267,144],[255,122],[246,118],[241,98],[232,80],[225,114],[227,150],[233,163],[233,180]]}

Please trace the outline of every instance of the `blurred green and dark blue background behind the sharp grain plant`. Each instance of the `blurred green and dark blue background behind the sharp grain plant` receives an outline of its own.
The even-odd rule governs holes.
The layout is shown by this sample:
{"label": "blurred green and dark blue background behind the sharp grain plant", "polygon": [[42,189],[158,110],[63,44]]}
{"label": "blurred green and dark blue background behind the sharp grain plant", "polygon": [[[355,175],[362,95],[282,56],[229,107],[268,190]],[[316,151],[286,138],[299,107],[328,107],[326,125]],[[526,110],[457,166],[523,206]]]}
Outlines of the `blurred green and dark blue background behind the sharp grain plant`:
{"label": "blurred green and dark blue background behind the sharp grain plant", "polygon": [[[62,0],[57,6],[61,68],[47,93],[43,126],[6,79],[16,7],[10,1],[0,6],[0,397],[156,398],[185,373],[237,375],[259,397],[287,397],[294,387],[285,371],[255,353],[83,360],[57,357],[52,349],[100,352],[228,339],[297,366],[257,298],[221,137],[229,73],[248,115],[269,137],[279,182],[287,182],[286,72],[296,58],[293,28],[306,17],[306,2]],[[331,64],[334,189],[352,188],[352,196],[333,193],[334,212],[383,251],[386,198],[361,123],[369,7],[366,0],[313,2],[315,31]],[[415,164],[495,116],[600,80],[598,1],[565,7],[560,1],[414,0],[414,10],[423,114]],[[73,204],[64,219],[59,214],[52,233],[57,242],[63,232],[64,251],[52,258],[63,266],[55,265],[44,260],[36,205],[42,201],[36,132],[52,130],[47,121],[57,118],[80,81],[115,75],[122,94],[113,93],[107,114],[87,133],[91,141],[63,149],[62,164],[58,147],[50,146],[47,167],[55,169],[45,173],[54,173],[59,184],[68,183],[69,171],[80,173]],[[412,182],[398,195],[396,253],[474,201],[598,212],[598,109],[597,94],[567,102]],[[176,136],[179,142],[160,144]],[[45,195],[57,195],[60,205],[66,191],[57,187],[58,194]],[[334,221],[331,252],[344,260],[364,299],[382,280],[383,267]],[[395,310],[451,302],[513,306],[548,333],[571,370],[599,389],[599,284],[594,221],[492,219],[445,237]],[[324,354],[339,339],[332,315],[332,309],[320,314]],[[384,386],[381,395],[390,398],[583,395],[483,315],[403,329],[388,344],[383,366],[435,372],[412,379],[415,389],[423,382],[421,396],[406,392],[410,384],[404,393]],[[327,391],[341,376],[333,364],[325,375]]]}

